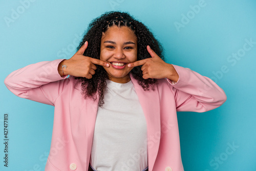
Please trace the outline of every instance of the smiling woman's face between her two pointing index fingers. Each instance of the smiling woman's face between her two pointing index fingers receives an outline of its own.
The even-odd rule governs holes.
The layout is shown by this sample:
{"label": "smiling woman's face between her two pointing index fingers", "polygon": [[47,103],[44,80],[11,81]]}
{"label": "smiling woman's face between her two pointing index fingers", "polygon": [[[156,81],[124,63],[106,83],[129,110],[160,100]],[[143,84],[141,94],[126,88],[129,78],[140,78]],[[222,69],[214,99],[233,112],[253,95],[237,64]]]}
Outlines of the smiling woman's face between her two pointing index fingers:
{"label": "smiling woman's face between her two pointing index fingers", "polygon": [[113,26],[102,33],[100,60],[110,64],[109,67],[103,67],[111,81],[129,82],[129,72],[133,68],[127,67],[127,64],[137,61],[137,37],[133,31],[125,26]]}

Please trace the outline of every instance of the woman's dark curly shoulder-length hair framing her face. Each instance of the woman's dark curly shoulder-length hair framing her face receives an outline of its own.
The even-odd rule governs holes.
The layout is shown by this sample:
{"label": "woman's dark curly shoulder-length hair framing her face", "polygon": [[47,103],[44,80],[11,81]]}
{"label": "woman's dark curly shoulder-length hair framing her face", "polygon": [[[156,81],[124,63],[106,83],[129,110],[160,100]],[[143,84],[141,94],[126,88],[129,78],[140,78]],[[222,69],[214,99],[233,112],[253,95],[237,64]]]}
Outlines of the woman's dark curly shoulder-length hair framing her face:
{"label": "woman's dark curly shoulder-length hair framing her face", "polygon": [[[130,14],[125,12],[111,11],[102,14],[100,17],[95,18],[91,21],[86,33],[83,36],[77,50],[88,41],[88,47],[83,53],[84,56],[89,56],[91,58],[100,59],[100,45],[102,33],[108,31],[109,28],[117,27],[128,27],[130,28],[137,37],[137,60],[142,60],[146,58],[151,58],[150,54],[146,50],[146,46],[150,45],[153,51],[164,60],[163,48],[158,40],[154,37],[153,33],[145,26],[142,22],[135,20]],[[134,67],[130,72],[132,72],[133,77],[137,80],[138,84],[146,90],[154,89],[157,85],[157,79],[143,79],[141,66]],[[104,93],[106,90],[106,80],[109,76],[106,70],[101,66],[97,65],[95,74],[91,79],[76,77],[76,85],[81,83],[81,93],[84,98],[92,97],[95,101],[97,99],[96,93],[99,94],[98,106],[104,104]]]}

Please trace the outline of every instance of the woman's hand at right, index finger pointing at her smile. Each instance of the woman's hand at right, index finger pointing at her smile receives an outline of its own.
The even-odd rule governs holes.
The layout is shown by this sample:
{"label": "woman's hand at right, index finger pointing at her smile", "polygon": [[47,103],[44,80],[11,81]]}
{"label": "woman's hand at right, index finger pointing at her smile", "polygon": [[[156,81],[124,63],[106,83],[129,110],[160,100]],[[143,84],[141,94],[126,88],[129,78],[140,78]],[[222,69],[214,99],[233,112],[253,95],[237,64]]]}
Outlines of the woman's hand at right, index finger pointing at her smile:
{"label": "woman's hand at right, index finger pointing at her smile", "polygon": [[177,82],[179,75],[172,64],[165,63],[151,48],[147,45],[147,52],[152,58],[142,59],[127,65],[127,67],[135,67],[142,65],[141,70],[143,79],[162,79],[168,78]]}

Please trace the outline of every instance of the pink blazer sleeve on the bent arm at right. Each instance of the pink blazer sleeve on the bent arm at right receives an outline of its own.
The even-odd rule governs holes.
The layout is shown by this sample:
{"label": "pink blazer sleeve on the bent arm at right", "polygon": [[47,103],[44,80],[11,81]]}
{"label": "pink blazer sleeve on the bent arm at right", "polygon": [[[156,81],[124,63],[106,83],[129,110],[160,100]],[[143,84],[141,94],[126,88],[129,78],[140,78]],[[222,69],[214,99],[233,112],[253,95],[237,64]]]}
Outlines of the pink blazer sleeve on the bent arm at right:
{"label": "pink blazer sleeve on the bent arm at right", "polygon": [[179,75],[175,83],[166,79],[172,90],[177,111],[205,112],[221,106],[227,99],[221,89],[211,79],[197,72],[173,65]]}

